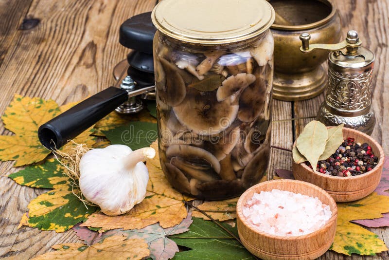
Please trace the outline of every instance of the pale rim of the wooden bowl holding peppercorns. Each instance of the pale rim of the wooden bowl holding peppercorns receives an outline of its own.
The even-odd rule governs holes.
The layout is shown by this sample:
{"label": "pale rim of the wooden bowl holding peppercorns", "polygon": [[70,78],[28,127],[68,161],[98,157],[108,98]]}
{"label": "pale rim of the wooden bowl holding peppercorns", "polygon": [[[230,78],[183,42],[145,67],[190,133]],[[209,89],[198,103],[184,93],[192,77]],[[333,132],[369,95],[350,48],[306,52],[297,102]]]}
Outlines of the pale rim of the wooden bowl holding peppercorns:
{"label": "pale rim of the wooden bowl holding peppercorns", "polygon": [[[327,129],[329,128],[334,128],[334,127],[327,127]],[[381,165],[384,164],[384,160],[385,160],[385,154],[384,154],[384,149],[382,149],[381,145],[378,144],[377,141],[375,141],[373,138],[371,138],[370,135],[367,135],[361,131],[358,131],[358,130],[354,130],[354,129],[351,129],[351,128],[343,128],[342,132],[346,130],[346,131],[351,131],[353,132],[355,135],[359,135],[359,136],[363,136],[367,139],[369,139],[371,141],[371,143],[374,143],[377,147],[378,147],[378,152],[379,152],[379,161],[377,163],[377,165],[369,172],[366,172],[366,173],[363,173],[363,174],[360,174],[360,175],[354,175],[354,176],[349,176],[349,177],[341,177],[341,176],[332,176],[332,175],[325,175],[321,172],[318,172],[318,171],[313,171],[310,167],[308,167],[304,162],[302,162],[301,164],[296,164],[293,161],[293,164],[295,165],[298,165],[302,168],[304,168],[305,170],[309,171],[310,173],[312,174],[316,174],[316,175],[319,175],[320,177],[323,177],[323,178],[330,178],[330,179],[335,179],[335,180],[339,180],[340,182],[348,182],[350,179],[358,179],[358,178],[365,178],[366,176],[369,176],[371,174],[374,174],[378,171],[378,169],[381,167]],[[356,137],[354,137],[356,139]],[[296,146],[296,141],[293,143],[293,148]]]}

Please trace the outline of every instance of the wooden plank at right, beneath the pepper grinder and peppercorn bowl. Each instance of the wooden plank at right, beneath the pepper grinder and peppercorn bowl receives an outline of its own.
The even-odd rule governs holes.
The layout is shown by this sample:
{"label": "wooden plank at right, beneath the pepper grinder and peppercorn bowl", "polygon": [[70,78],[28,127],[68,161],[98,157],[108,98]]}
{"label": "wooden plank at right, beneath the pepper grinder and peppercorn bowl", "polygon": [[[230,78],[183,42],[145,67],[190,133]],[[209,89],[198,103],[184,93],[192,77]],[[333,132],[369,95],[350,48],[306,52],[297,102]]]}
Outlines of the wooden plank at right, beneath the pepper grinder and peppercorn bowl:
{"label": "wooden plank at right, beneath the pepper grinder and peppercorn bowl", "polygon": [[[386,154],[389,153],[389,90],[386,87],[389,83],[389,75],[386,69],[389,66],[389,2],[385,0],[377,1],[354,1],[354,0],[336,0],[339,14],[343,23],[343,36],[348,30],[356,30],[362,39],[363,46],[369,48],[376,57],[374,64],[373,85],[375,90],[373,94],[372,106],[377,115],[372,137],[380,143]],[[315,116],[318,106],[323,101],[324,95],[317,98],[295,102],[295,117]],[[296,121],[295,134],[303,129],[303,126],[311,121],[304,119]],[[368,228],[389,244],[389,228]],[[320,259],[351,259],[332,251],[327,252]],[[353,255],[352,259],[389,259],[388,252],[377,254],[377,256],[357,256]]]}

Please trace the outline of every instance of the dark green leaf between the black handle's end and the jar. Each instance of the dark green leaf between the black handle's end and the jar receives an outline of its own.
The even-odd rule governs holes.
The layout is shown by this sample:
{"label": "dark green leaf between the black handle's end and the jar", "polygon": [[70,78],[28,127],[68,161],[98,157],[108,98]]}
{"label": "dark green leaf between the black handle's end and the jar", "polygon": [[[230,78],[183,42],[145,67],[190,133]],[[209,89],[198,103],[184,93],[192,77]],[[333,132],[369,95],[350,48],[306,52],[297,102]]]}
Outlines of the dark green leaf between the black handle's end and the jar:
{"label": "dark green leaf between the black handle's end and the jar", "polygon": [[134,121],[103,131],[113,145],[126,145],[133,150],[149,147],[157,139],[157,124]]}

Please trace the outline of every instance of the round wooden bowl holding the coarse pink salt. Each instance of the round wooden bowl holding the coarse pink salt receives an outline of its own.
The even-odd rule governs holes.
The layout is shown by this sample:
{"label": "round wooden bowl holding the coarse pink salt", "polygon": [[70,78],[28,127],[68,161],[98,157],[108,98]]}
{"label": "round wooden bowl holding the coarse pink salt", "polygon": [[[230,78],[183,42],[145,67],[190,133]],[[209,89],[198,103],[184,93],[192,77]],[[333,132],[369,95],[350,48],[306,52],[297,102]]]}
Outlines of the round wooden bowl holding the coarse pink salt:
{"label": "round wooden bowl holding the coarse pink salt", "polygon": [[[330,218],[317,230],[306,235],[272,235],[260,231],[258,224],[254,224],[243,213],[247,210],[247,203],[252,201],[255,193],[262,191],[281,190],[300,193],[309,197],[317,197],[322,204],[329,206]],[[277,203],[277,202],[274,202]],[[310,183],[296,180],[273,180],[263,182],[246,190],[236,205],[237,227],[242,244],[253,255],[261,259],[276,260],[305,260],[316,259],[323,255],[335,239],[337,206],[334,199],[322,188]],[[301,216],[301,219],[304,217]],[[296,221],[293,225],[298,225]]]}

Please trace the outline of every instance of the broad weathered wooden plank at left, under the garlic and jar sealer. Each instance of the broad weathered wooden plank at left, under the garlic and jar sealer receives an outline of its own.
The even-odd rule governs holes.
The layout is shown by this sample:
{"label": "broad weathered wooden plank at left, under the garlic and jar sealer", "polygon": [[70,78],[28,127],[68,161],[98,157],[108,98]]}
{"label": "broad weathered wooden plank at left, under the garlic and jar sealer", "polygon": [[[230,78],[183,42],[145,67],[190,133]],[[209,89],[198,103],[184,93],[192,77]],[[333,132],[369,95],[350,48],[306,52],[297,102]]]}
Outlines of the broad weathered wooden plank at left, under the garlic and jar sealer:
{"label": "broad weathered wooden plank at left, under the garlic and jar sealer", "polygon": [[[129,52],[118,42],[120,24],[135,14],[150,11],[155,3],[34,0],[26,16],[41,19],[40,24],[29,31],[16,32],[15,43],[0,67],[0,113],[14,93],[65,104],[112,85],[113,67]],[[11,134],[3,126],[0,132]],[[45,190],[18,186],[5,177],[16,170],[12,163],[0,164],[0,257],[30,259],[51,250],[54,244],[78,241],[73,231],[55,233],[28,227],[17,230],[27,204]]]}

